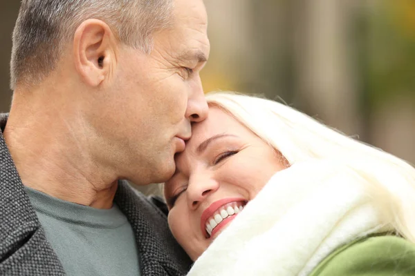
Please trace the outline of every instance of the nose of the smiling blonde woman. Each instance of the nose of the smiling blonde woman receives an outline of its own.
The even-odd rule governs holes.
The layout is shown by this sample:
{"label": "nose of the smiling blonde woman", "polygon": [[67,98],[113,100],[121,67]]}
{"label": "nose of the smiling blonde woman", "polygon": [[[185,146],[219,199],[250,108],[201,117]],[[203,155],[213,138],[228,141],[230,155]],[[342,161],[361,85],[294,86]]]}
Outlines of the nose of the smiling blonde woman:
{"label": "nose of the smiling blonde woman", "polygon": [[219,184],[211,177],[192,177],[187,186],[187,205],[191,210],[218,190]]}

